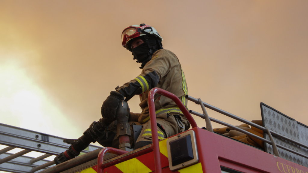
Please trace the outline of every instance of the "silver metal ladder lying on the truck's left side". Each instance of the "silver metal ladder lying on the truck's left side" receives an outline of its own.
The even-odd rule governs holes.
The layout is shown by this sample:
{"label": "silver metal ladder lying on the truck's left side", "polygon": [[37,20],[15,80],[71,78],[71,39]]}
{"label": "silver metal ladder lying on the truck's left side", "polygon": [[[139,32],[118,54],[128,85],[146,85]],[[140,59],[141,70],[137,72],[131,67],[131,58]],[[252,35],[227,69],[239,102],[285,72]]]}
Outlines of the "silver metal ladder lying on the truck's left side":
{"label": "silver metal ladder lying on the truck's left side", "polygon": [[[59,155],[70,147],[63,142],[64,138],[47,135],[0,123],[0,144],[8,146],[0,150],[0,171],[14,173],[33,173],[55,166],[54,161],[44,160],[51,155]],[[11,154],[8,151],[14,148],[24,149]],[[80,155],[99,149],[89,145]],[[44,153],[37,158],[23,156],[31,151]]]}

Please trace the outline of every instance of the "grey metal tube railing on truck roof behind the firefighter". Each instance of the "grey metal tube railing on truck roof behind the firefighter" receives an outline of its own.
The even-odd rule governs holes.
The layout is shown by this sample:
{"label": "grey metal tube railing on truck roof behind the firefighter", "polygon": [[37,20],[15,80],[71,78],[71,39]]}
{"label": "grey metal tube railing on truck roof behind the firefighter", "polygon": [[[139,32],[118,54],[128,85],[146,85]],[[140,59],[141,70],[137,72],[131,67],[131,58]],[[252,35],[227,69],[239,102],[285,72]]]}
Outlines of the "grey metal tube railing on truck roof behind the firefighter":
{"label": "grey metal tube railing on truck roof behind the firefighter", "polygon": [[[265,131],[266,133],[268,133],[268,135],[269,135],[269,137],[270,137],[271,140],[267,140],[267,139],[265,139],[265,138],[261,138],[260,136],[255,135],[255,134],[253,134],[253,133],[250,133],[250,132],[248,132],[248,131],[245,131],[245,130],[239,128],[239,127],[236,127],[236,126],[233,126],[233,125],[231,125],[231,124],[225,123],[225,122],[223,122],[223,121],[220,121],[220,120],[217,120],[217,119],[214,119],[214,118],[209,117],[209,120],[210,120],[210,121],[213,121],[213,122],[215,122],[215,123],[218,123],[218,124],[221,124],[221,125],[224,125],[224,126],[233,128],[233,129],[235,129],[235,130],[237,130],[237,131],[240,131],[240,132],[242,132],[242,133],[244,133],[244,134],[246,134],[246,135],[250,135],[250,136],[252,136],[252,137],[254,137],[254,138],[256,138],[256,139],[259,139],[259,140],[261,140],[261,141],[263,141],[263,142],[266,142],[266,143],[272,145],[273,151],[274,151],[274,155],[276,155],[276,156],[279,157],[279,152],[278,152],[278,149],[277,149],[277,147],[278,147],[278,148],[282,148],[282,149],[284,149],[284,150],[286,150],[286,151],[292,152],[292,153],[294,153],[294,154],[296,154],[296,155],[299,155],[299,156],[302,156],[302,157],[308,159],[308,156],[303,155],[302,153],[299,153],[299,152],[297,152],[297,151],[291,150],[291,149],[286,148],[286,147],[284,147],[284,146],[282,146],[282,145],[276,144],[276,143],[274,142],[274,139],[273,139],[272,135],[274,135],[274,136],[276,136],[276,137],[279,137],[279,138],[281,138],[281,139],[284,139],[284,140],[286,140],[286,141],[289,141],[289,142],[291,142],[291,143],[294,143],[294,144],[296,144],[296,145],[299,145],[299,146],[301,146],[301,147],[304,147],[304,148],[308,149],[308,146],[305,145],[305,144],[303,144],[303,143],[300,143],[300,142],[298,142],[298,141],[295,141],[295,140],[293,140],[293,139],[290,139],[290,138],[288,138],[288,137],[286,137],[286,136],[280,135],[279,133],[276,133],[276,132],[274,132],[274,131],[269,130],[267,127],[262,127],[262,126],[260,126],[260,125],[258,125],[258,124],[255,124],[255,123],[250,122],[250,121],[248,121],[248,120],[246,120],[246,119],[243,119],[243,118],[238,117],[238,116],[236,116],[236,115],[233,115],[233,114],[231,114],[231,113],[229,113],[229,112],[226,112],[226,111],[224,111],[224,110],[222,110],[222,109],[219,109],[219,108],[217,108],[217,107],[214,107],[214,106],[212,106],[212,105],[210,105],[210,104],[208,104],[208,103],[202,102],[201,99],[196,99],[196,98],[193,98],[193,97],[191,97],[191,96],[189,96],[189,95],[186,95],[185,98],[188,99],[188,100],[190,100],[190,101],[192,101],[192,102],[194,102],[194,103],[196,103],[196,104],[200,104],[200,105],[201,105],[203,114],[198,113],[198,112],[196,112],[196,111],[192,111],[192,110],[190,110],[189,112],[190,112],[191,114],[193,114],[193,115],[197,115],[197,116],[199,116],[199,117],[205,119],[206,125],[209,124],[209,122],[208,122],[208,120],[207,120],[207,118],[206,118],[208,115],[207,115],[207,112],[206,112],[206,110],[205,110],[204,107],[207,107],[207,108],[209,108],[209,109],[211,109],[211,110],[213,110],[213,111],[219,112],[219,113],[221,113],[221,114],[223,114],[223,115],[226,115],[226,116],[228,116],[228,117],[230,117],[230,118],[236,119],[236,120],[238,120],[238,121],[240,121],[240,122],[242,122],[242,123],[246,123],[246,124],[248,124],[248,125],[250,125],[250,126],[256,127],[256,128],[258,128],[258,129],[260,129],[260,130]],[[201,104],[201,103],[202,103],[202,104]],[[202,106],[203,106],[203,107],[202,107]],[[208,126],[207,126],[206,128],[208,129]],[[209,128],[212,128],[212,126],[210,126]],[[212,130],[212,129],[211,129],[211,130]],[[212,131],[213,131],[213,130],[212,130]]]}

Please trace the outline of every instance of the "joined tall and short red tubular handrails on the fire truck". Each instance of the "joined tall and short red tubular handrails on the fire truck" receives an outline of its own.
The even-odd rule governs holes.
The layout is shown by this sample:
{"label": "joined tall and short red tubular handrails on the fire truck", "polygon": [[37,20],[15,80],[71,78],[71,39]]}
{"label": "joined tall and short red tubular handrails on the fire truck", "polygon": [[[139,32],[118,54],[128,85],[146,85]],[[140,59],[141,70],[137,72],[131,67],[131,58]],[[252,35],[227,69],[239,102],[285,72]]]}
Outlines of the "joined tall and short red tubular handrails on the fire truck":
{"label": "joined tall and short red tubular handrails on the fire truck", "polygon": [[[150,113],[150,122],[151,122],[151,131],[152,132],[156,132],[157,131],[157,122],[156,122],[156,113],[155,113],[155,106],[154,106],[154,95],[155,94],[160,94],[163,95],[165,97],[168,97],[169,99],[172,99],[176,105],[180,108],[180,110],[183,112],[183,114],[185,115],[185,117],[187,118],[187,120],[189,121],[189,123],[191,124],[191,126],[194,127],[198,127],[196,121],[193,119],[193,117],[190,115],[190,113],[188,112],[188,110],[186,109],[186,107],[183,105],[183,103],[180,101],[180,99],[172,94],[171,92],[165,91],[163,89],[160,88],[153,88],[148,95],[148,106],[149,106],[149,113]],[[155,163],[155,172],[156,173],[162,173],[162,168],[161,168],[161,161],[160,161],[160,151],[159,151],[159,143],[158,143],[158,133],[154,133],[152,134],[152,141],[153,144],[151,147],[132,153],[130,155],[127,155],[121,159],[117,159],[117,160],[113,160],[112,162],[108,162],[106,164],[103,164],[103,157],[105,155],[105,153],[113,153],[113,154],[117,154],[117,155],[122,155],[127,153],[127,151],[122,151],[116,148],[112,148],[112,147],[106,147],[103,148],[98,155],[98,159],[97,159],[97,166],[98,166],[98,173],[103,173],[103,169],[106,167],[110,167],[113,166],[117,163],[121,163],[124,162],[126,160],[135,158],[139,155],[143,155],[146,153],[149,153],[151,151],[153,151],[154,154],[154,163]]]}

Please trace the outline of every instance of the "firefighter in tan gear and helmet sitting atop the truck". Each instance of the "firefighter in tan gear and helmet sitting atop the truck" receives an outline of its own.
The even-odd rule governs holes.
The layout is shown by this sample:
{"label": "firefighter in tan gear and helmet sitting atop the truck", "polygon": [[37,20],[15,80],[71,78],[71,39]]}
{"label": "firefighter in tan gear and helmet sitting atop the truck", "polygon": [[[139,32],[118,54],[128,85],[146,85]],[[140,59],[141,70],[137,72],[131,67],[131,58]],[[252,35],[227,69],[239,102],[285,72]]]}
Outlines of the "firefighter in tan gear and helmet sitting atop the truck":
{"label": "firefighter in tan gear and helmet sitting atop the truck", "polygon": [[[118,86],[115,91],[111,91],[110,96],[103,102],[101,113],[105,119],[115,119],[115,112],[124,97],[128,98],[136,94],[140,96],[142,109],[140,114],[130,113],[129,120],[135,124],[142,124],[143,128],[139,135],[135,148],[143,147],[152,143],[152,132],[148,108],[148,92],[158,87],[175,94],[187,108],[188,88],[181,68],[179,59],[170,50],[163,49],[163,38],[158,34],[154,27],[140,24],[132,25],[122,32],[122,46],[132,52],[134,60],[141,63],[141,74],[123,86]],[[138,88],[142,91],[136,93]],[[157,121],[157,132],[159,139],[178,134],[188,130],[190,124],[187,119],[169,98],[156,95],[155,111]],[[137,123],[136,123],[137,122]],[[115,135],[115,125],[110,136]],[[112,135],[113,133],[113,135]],[[107,144],[116,147],[118,143],[114,140]],[[111,142],[111,141],[109,141]],[[104,143],[104,141],[99,141]],[[106,145],[106,144],[105,144]]]}

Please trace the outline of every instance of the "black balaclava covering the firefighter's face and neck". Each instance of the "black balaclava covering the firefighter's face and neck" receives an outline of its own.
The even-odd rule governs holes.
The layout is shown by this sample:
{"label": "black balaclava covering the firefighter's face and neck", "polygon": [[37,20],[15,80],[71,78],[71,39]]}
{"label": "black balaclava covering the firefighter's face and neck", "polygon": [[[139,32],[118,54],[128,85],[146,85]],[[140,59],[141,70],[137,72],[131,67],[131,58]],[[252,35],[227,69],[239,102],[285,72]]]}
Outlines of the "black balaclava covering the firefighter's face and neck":
{"label": "black balaclava covering the firefighter's face and neck", "polygon": [[148,37],[147,35],[137,37],[144,41],[144,43],[132,49],[132,54],[134,59],[138,63],[141,63],[140,69],[143,69],[145,64],[149,62],[152,58],[152,55],[157,50],[163,49],[161,42],[157,41],[156,38]]}

